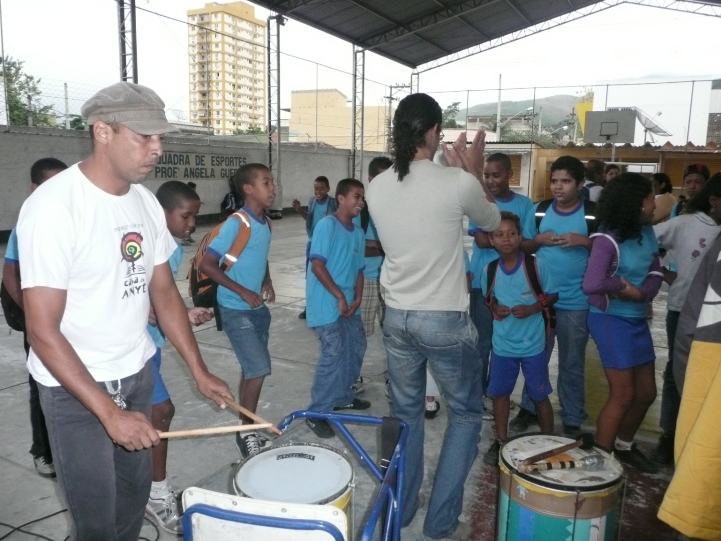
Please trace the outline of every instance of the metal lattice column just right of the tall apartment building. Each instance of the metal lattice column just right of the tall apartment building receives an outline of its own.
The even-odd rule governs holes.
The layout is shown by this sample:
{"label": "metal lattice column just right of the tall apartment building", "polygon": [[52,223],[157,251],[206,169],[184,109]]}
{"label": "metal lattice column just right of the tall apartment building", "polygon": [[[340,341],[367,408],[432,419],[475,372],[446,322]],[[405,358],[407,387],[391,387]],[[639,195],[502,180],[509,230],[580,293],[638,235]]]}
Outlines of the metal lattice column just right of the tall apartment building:
{"label": "metal lattice column just right of the tall apartment building", "polygon": [[283,208],[283,183],[280,180],[280,27],[286,17],[275,15],[267,19],[268,70],[268,167],[275,179],[275,206]]}

